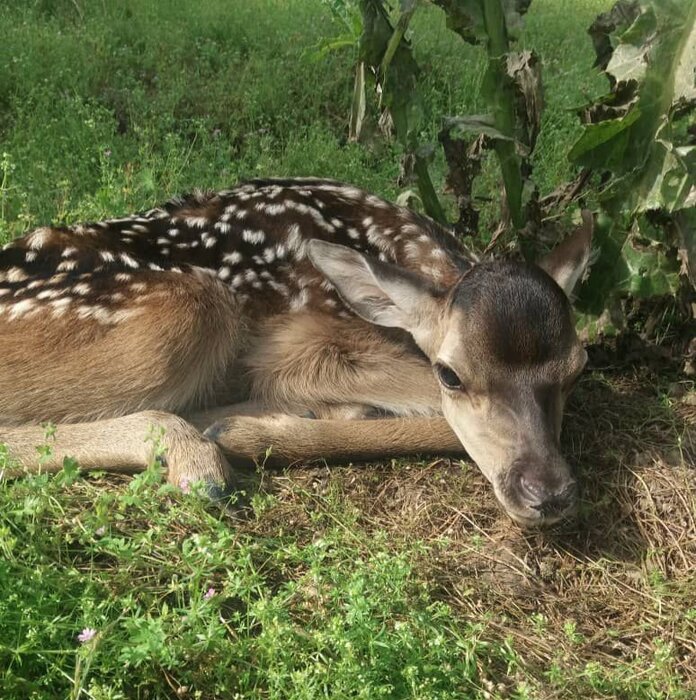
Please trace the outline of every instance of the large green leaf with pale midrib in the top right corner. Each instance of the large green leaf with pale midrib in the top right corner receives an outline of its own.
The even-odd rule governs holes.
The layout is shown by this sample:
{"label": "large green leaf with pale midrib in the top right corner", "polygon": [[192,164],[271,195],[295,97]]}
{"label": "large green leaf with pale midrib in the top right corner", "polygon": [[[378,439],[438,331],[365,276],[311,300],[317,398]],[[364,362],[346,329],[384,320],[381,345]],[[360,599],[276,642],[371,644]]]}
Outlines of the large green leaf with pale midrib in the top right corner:
{"label": "large green leaf with pale midrib in the top right corner", "polygon": [[[696,100],[696,3],[644,0],[616,7],[632,21],[626,27],[614,17],[614,25],[605,26],[614,26],[618,44],[611,55],[598,56],[611,77],[613,105],[603,100],[601,109],[588,110],[594,123],[569,157],[615,176],[605,194],[610,210],[674,209],[695,183],[693,158],[684,150],[689,144],[675,141],[683,132],[673,114],[675,106]],[[607,104],[625,111],[606,119]]]}

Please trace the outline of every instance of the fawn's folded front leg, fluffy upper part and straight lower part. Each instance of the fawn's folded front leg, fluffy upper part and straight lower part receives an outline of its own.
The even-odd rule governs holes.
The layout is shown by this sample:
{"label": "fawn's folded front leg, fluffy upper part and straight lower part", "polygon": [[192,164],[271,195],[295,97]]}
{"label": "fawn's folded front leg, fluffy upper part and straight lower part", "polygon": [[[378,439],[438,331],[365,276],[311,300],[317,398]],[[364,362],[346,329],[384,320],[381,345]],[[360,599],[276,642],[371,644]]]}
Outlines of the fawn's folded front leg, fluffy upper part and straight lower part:
{"label": "fawn's folded front leg, fluffy upper part and straight lower part", "polygon": [[[233,463],[464,452],[436,417],[440,391],[430,364],[403,336],[357,318],[298,313],[268,322],[243,361],[259,403],[190,416]],[[345,420],[372,408],[412,417]],[[300,417],[307,409],[317,419]]]}

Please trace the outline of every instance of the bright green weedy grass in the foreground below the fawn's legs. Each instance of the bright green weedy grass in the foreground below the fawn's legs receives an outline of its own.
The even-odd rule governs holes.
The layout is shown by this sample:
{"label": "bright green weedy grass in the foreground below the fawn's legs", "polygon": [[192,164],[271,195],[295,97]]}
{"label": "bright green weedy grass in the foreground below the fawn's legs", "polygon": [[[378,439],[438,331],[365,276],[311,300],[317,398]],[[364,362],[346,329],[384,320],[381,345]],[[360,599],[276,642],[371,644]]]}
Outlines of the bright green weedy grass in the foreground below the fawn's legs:
{"label": "bright green weedy grass in the foreground below the fawn's legs", "polygon": [[[312,542],[253,536],[150,474],[103,486],[38,476],[3,494],[3,698],[478,693],[482,627],[429,598],[418,545],[347,535],[345,514]],[[98,633],[79,644],[83,628]]]}

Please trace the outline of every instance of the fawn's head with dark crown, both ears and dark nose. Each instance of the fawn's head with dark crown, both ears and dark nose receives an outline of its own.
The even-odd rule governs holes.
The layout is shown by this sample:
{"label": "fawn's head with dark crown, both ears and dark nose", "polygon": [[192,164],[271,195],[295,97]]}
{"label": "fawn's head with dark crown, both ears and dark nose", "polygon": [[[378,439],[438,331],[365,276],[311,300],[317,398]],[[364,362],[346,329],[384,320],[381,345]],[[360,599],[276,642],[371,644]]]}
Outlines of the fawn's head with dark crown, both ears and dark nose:
{"label": "fawn's head with dark crown, both ears and dark nose", "polygon": [[356,314],[413,336],[432,363],[447,422],[525,526],[555,522],[577,501],[559,436],[587,359],[569,301],[590,255],[592,219],[583,219],[538,266],[474,265],[449,289],[344,246],[310,244],[312,262]]}

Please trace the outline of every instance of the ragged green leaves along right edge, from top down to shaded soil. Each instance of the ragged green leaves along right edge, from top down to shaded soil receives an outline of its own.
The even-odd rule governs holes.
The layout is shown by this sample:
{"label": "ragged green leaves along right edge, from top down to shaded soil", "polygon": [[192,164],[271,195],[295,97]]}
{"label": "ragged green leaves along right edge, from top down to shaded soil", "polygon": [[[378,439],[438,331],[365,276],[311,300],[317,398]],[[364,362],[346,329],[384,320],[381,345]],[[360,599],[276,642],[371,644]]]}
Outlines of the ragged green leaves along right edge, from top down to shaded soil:
{"label": "ragged green leaves along right edge, from top down to shaded soil", "polygon": [[687,222],[696,204],[696,3],[621,1],[591,34],[611,92],[584,110],[588,123],[569,157],[604,176],[608,219],[580,299],[599,315],[617,308],[617,295],[673,294],[677,246],[682,272],[693,255]]}

